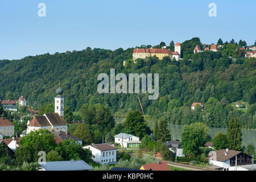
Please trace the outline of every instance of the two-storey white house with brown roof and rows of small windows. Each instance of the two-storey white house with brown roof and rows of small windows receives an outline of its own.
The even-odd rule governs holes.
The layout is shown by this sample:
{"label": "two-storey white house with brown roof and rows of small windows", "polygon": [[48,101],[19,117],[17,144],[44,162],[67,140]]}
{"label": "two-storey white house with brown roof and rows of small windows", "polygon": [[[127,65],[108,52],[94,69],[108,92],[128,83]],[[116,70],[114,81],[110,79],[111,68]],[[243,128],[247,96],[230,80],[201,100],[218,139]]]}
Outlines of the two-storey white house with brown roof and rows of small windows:
{"label": "two-storey white house with brown roof and rows of small windows", "polygon": [[92,151],[93,161],[98,164],[115,164],[117,162],[117,148],[110,144],[90,144],[82,148]]}

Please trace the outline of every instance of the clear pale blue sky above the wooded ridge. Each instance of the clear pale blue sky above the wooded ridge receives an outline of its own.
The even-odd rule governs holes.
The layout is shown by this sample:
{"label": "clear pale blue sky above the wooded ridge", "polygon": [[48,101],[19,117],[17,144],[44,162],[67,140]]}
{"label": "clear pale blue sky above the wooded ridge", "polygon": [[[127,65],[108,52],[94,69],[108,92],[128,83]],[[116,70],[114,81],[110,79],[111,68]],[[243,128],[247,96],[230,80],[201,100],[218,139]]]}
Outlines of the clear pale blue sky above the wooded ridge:
{"label": "clear pale blue sky above the wooded ridge", "polygon": [[[38,4],[46,4],[46,17]],[[208,15],[216,3],[217,17]],[[255,0],[2,0],[0,2],[0,60],[86,47],[124,49],[184,42],[202,43],[234,38],[254,44]]]}

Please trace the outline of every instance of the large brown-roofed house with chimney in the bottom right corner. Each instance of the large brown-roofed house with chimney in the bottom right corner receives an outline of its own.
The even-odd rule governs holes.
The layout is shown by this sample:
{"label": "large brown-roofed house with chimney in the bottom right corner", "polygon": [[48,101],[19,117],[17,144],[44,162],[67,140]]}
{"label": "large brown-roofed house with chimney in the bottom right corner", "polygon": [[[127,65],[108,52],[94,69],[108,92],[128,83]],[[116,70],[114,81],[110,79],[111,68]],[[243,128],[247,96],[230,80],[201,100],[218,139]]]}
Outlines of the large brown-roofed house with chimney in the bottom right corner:
{"label": "large brown-roofed house with chimney in the bottom right corner", "polygon": [[209,164],[212,165],[211,167],[224,171],[233,171],[234,169],[248,171],[248,168],[253,163],[250,155],[244,154],[241,151],[229,150],[228,148],[214,151],[213,155],[209,156],[208,159]]}

